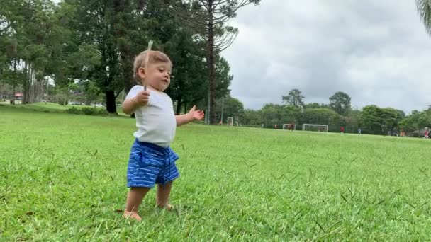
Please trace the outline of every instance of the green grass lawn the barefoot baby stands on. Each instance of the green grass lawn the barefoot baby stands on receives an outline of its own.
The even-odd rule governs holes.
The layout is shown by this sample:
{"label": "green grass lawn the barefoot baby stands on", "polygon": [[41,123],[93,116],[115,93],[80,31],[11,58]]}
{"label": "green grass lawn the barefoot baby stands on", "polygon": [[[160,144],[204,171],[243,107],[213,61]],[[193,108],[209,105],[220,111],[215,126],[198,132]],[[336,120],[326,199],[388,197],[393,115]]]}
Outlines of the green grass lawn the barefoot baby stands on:
{"label": "green grass lawn the barefoot baby stands on", "polygon": [[125,221],[135,121],[0,106],[4,241],[427,241],[430,140],[186,125],[174,212]]}

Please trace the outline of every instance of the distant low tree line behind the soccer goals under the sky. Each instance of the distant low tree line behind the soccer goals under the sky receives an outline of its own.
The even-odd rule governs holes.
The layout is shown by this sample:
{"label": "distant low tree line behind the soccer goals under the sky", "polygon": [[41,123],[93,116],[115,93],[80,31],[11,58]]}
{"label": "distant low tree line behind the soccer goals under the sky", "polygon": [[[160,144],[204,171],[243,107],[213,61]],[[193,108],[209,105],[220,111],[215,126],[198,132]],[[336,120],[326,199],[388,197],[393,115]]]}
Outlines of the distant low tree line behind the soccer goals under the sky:
{"label": "distant low tree line behind the soccer goals under the sky", "polygon": [[340,127],[344,127],[345,132],[352,133],[361,128],[363,134],[399,134],[403,130],[417,136],[422,129],[431,127],[431,105],[426,110],[413,110],[405,115],[403,110],[377,105],[354,110],[350,96],[341,91],[330,96],[329,103],[305,103],[304,98],[301,91],[292,89],[281,97],[281,103],[267,103],[259,110],[244,109],[239,100],[229,98],[225,115],[251,127],[274,128],[276,125],[281,129],[283,124],[294,123],[296,129],[301,129],[303,124],[318,124],[328,125],[329,132],[340,132]]}

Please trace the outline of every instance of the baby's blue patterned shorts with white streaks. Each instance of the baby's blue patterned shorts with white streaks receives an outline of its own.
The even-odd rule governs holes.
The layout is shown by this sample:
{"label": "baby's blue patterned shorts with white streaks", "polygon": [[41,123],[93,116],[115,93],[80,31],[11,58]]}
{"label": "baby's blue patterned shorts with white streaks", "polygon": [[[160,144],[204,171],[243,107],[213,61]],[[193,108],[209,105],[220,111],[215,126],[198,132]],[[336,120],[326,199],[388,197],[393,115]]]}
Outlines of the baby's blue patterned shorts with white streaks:
{"label": "baby's blue patterned shorts with white streaks", "polygon": [[152,188],[179,177],[175,161],[178,155],[170,148],[135,140],[130,151],[127,187]]}

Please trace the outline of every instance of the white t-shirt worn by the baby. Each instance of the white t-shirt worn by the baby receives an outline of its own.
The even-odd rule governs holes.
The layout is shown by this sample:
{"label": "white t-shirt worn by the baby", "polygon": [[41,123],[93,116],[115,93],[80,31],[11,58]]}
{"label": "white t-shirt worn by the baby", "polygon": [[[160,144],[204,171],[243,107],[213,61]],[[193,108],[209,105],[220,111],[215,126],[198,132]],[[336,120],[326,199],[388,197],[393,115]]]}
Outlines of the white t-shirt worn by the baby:
{"label": "white t-shirt worn by the baby", "polygon": [[[133,86],[125,99],[135,97],[141,90],[144,90],[143,86]],[[175,136],[177,120],[175,120],[172,99],[166,93],[150,90],[147,105],[135,110],[135,118],[138,130],[133,135],[140,142],[162,147],[168,147],[171,144]]]}

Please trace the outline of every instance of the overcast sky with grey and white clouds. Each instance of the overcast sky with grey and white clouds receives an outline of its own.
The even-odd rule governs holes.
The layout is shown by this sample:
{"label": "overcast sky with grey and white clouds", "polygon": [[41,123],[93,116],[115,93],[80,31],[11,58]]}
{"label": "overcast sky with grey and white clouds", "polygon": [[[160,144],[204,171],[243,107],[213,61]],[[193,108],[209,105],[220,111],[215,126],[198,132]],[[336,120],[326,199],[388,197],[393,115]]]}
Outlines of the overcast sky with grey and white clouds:
{"label": "overcast sky with grey and white clouds", "polygon": [[292,88],[306,103],[343,91],[358,109],[431,105],[431,38],[414,0],[262,0],[229,25],[240,33],[223,56],[245,108],[281,103]]}

